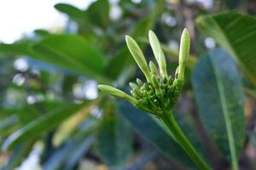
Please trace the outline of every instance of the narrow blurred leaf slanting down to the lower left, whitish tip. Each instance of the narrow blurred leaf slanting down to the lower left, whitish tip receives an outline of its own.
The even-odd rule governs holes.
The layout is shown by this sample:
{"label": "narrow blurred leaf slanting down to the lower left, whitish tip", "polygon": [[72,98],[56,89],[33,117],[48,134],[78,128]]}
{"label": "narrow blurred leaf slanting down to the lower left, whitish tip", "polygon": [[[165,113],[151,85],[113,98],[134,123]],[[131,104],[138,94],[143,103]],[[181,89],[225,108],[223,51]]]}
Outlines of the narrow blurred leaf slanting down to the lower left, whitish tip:
{"label": "narrow blurred leaf slanting down to the lower left, whitish tip", "polygon": [[27,139],[42,135],[45,131],[58,126],[59,123],[79,111],[83,106],[84,105],[62,105],[61,108],[56,108],[43,116],[39,116],[32,122],[29,122],[24,127],[15,131],[15,133],[10,134],[8,139],[3,142],[2,149],[8,150]]}

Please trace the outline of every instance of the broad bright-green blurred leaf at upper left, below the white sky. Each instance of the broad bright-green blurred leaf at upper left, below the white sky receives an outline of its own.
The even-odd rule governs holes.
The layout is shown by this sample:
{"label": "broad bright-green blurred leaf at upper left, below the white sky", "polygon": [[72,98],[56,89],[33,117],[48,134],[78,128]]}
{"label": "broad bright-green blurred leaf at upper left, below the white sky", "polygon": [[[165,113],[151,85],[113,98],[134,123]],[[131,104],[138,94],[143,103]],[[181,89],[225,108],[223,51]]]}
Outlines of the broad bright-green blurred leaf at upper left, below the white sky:
{"label": "broad bright-green blurred leaf at upper left, below the white sky", "polygon": [[[54,35],[32,46],[31,57],[67,68],[98,81],[102,77],[106,61],[100,51],[84,38],[75,35]],[[108,81],[108,80],[106,80]]]}

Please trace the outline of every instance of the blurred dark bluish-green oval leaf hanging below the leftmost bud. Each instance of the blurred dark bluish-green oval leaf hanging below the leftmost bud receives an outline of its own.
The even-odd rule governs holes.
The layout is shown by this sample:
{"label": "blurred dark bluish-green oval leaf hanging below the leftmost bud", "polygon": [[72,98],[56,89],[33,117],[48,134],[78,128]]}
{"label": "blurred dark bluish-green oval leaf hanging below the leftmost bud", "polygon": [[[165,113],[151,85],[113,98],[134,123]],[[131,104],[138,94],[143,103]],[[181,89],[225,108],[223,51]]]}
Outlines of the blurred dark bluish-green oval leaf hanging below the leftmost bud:
{"label": "blurred dark bluish-green oval leaf hanging below the leftmost bud", "polygon": [[103,116],[96,139],[99,154],[109,167],[125,165],[131,156],[132,133],[122,116]]}

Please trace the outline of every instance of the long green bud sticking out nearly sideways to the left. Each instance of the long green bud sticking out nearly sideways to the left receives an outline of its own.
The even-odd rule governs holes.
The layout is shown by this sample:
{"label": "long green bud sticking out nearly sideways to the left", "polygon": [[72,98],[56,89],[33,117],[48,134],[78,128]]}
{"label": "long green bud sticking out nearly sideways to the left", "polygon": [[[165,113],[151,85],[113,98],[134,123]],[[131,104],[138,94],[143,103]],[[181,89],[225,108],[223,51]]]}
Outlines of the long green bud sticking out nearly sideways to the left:
{"label": "long green bud sticking out nearly sideways to the left", "polygon": [[110,95],[113,95],[115,97],[119,97],[119,98],[122,98],[122,99],[126,99],[127,101],[131,102],[133,105],[137,104],[137,99],[134,99],[129,94],[125,94],[125,92],[119,90],[118,88],[113,88],[111,86],[104,85],[104,84],[98,85],[98,88],[103,93],[110,94]]}

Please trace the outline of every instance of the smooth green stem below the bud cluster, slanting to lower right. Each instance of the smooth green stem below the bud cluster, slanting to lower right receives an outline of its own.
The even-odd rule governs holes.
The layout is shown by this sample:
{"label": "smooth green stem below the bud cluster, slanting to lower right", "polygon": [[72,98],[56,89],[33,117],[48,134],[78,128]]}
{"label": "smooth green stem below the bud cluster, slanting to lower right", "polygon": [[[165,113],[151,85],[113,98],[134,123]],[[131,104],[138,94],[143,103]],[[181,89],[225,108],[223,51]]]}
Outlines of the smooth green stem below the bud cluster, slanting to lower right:
{"label": "smooth green stem below the bud cluster, slanting to lower right", "polygon": [[163,122],[165,122],[166,126],[171,131],[173,137],[177,141],[178,144],[187,152],[190,158],[195,161],[195,164],[203,170],[211,169],[208,167],[207,163],[203,161],[201,156],[195,150],[193,145],[189,142],[189,139],[184,135],[182,129],[178,126],[173,113],[172,112],[164,112],[162,116]]}

